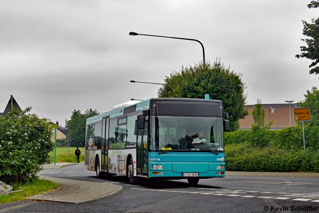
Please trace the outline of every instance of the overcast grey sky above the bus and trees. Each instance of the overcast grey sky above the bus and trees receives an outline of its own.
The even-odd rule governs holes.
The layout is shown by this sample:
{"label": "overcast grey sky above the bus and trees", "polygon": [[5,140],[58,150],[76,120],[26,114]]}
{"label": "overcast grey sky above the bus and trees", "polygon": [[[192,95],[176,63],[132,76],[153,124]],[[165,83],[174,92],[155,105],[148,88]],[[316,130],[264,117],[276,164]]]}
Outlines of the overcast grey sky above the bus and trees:
{"label": "overcast grey sky above the bus and trees", "polygon": [[71,111],[157,97],[182,65],[221,62],[243,74],[248,104],[303,100],[319,76],[297,59],[309,1],[0,1],[0,111],[21,108],[64,126]]}

